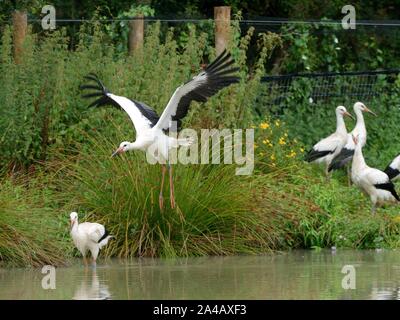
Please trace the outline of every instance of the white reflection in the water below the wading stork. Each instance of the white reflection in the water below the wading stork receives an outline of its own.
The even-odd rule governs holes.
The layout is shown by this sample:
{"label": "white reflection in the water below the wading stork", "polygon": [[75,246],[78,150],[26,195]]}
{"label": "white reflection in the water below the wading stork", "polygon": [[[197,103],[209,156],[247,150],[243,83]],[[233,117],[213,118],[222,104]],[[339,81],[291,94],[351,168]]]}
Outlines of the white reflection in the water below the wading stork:
{"label": "white reflection in the water below the wading stork", "polygon": [[99,280],[95,269],[85,269],[85,274],[78,285],[72,300],[110,300],[108,286]]}

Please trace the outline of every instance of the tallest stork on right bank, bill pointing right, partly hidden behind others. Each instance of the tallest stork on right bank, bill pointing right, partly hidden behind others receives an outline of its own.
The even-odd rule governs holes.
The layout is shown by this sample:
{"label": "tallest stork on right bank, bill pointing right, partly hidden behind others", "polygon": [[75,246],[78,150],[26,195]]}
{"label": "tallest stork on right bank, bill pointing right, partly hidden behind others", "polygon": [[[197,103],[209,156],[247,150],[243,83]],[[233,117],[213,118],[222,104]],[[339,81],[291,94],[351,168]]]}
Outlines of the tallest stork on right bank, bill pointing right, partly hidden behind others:
{"label": "tallest stork on right bank, bill pointing right, partly hidden behind others", "polygon": [[[341,169],[346,164],[351,162],[355,150],[353,136],[358,137],[358,143],[361,145],[361,148],[363,148],[367,142],[367,129],[365,127],[363,112],[372,113],[374,116],[376,116],[376,113],[368,109],[368,107],[366,107],[362,102],[356,102],[353,106],[353,110],[357,119],[356,125],[354,129],[347,134],[346,145],[339,152],[339,154],[332,159],[332,162],[328,168],[329,172],[332,170]],[[348,172],[348,176],[350,179],[350,172]]]}

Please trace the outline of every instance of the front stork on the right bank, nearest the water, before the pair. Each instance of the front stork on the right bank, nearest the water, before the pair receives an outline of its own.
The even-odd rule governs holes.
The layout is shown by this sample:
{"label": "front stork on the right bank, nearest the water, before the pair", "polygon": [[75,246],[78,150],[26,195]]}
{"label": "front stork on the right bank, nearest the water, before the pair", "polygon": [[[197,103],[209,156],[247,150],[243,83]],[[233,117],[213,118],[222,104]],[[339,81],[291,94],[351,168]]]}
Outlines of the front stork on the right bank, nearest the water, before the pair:
{"label": "front stork on the right bank, nearest the water, before the pair", "polygon": [[351,166],[351,179],[364,194],[371,198],[372,213],[375,213],[377,206],[385,202],[400,201],[388,175],[381,170],[369,167],[365,163],[358,137],[353,137],[353,141],[356,148]]}

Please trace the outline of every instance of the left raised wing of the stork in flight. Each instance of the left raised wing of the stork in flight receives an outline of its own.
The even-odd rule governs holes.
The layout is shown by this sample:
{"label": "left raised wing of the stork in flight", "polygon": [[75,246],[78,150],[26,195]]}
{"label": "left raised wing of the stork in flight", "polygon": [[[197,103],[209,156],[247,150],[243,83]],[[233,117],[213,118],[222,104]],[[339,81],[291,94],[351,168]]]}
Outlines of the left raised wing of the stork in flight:
{"label": "left raised wing of the stork in flight", "polygon": [[85,77],[96,84],[81,85],[81,90],[94,90],[84,94],[83,98],[97,97],[89,107],[101,107],[111,105],[114,107],[122,108],[131,118],[135,127],[136,134],[140,135],[146,129],[152,128],[158,121],[157,113],[143,102],[130,100],[126,97],[121,97],[110,93],[99,78],[91,73]]}

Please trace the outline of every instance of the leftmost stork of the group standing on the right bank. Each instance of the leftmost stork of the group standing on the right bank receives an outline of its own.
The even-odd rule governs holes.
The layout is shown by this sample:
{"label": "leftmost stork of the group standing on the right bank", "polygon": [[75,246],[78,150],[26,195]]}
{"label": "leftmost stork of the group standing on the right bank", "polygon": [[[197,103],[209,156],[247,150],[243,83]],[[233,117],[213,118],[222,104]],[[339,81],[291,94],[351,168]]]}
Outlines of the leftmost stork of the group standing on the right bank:
{"label": "leftmost stork of the group standing on the right bank", "polygon": [[325,163],[327,178],[329,178],[328,168],[332,159],[339,154],[346,144],[347,130],[344,116],[353,118],[344,106],[338,106],[336,108],[336,131],[315,144],[305,156],[307,162]]}

